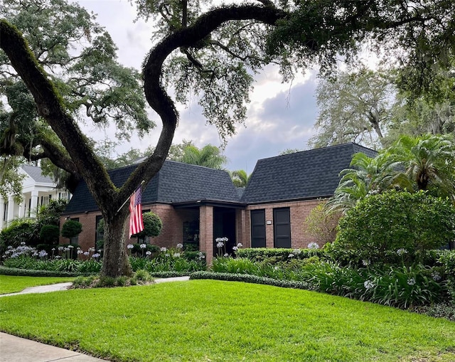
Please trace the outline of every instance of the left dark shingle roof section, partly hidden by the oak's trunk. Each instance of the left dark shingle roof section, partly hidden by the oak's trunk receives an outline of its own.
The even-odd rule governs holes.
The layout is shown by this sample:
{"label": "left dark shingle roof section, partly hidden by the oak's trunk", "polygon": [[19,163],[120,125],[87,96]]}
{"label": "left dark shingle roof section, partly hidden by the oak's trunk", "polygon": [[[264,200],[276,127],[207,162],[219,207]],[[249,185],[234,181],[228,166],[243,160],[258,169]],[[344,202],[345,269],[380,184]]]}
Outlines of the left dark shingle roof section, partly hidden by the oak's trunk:
{"label": "left dark shingle roof section, partly hidden by the oak's trunk", "polygon": [[[109,171],[115,186],[122,186],[137,165]],[[240,197],[228,172],[207,167],[164,161],[163,167],[142,193],[142,203],[182,203],[188,201],[239,202]],[[98,207],[87,185],[81,181],[65,213],[96,211]]]}

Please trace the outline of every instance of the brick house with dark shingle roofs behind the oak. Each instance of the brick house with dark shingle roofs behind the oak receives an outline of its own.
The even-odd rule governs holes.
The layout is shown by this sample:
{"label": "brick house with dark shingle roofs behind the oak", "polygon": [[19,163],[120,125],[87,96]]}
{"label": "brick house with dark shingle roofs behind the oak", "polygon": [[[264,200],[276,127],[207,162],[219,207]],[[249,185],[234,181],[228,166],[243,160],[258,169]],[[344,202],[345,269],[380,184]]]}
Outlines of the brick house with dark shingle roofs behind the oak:
{"label": "brick house with dark shingle roofs behind the oak", "polygon": [[[307,247],[315,240],[304,228],[306,217],[333,195],[340,171],[349,167],[357,152],[376,155],[348,143],[260,159],[245,189],[235,188],[226,171],[165,161],[142,193],[143,211],[153,211],[163,221],[161,234],[151,243],[166,247],[193,244],[207,253],[208,262],[218,251],[215,238],[219,237],[228,238],[228,252],[237,243],[244,247]],[[119,186],[135,167],[112,170],[109,175]],[[101,214],[84,182],[68,203],[62,225],[66,218],[82,223],[77,243],[83,250],[95,246]]]}

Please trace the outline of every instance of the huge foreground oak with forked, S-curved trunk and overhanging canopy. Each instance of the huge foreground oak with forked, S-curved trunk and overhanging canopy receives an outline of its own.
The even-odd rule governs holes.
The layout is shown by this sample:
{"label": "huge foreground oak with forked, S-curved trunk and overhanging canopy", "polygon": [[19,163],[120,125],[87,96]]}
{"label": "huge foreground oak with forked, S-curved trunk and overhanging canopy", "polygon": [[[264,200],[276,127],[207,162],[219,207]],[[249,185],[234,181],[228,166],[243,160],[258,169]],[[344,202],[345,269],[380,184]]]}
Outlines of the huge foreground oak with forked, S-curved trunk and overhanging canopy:
{"label": "huge foreground oak with forked, S-curved trunk and overhanging canopy", "polygon": [[6,54],[1,57],[9,59],[14,68],[9,71],[17,73],[31,92],[38,115],[60,139],[60,146],[68,152],[66,159],[100,208],[105,220],[102,274],[111,277],[131,273],[124,246],[128,210],[122,203],[141,181],[148,183],[159,171],[178,123],[166,85],[174,87],[178,101],[188,100],[188,92],[198,95],[203,114],[225,138],[235,132],[235,122],[245,119],[251,74],[271,61],[282,65],[285,78],[295,68],[314,63],[326,71],[333,68],[340,53],[352,60],[369,41],[378,49],[387,48],[387,56],[404,67],[422,70],[407,77],[407,84],[414,83],[418,91],[432,82],[434,65],[449,66],[455,49],[451,0],[412,6],[405,0],[277,1],[277,5],[262,0],[210,10],[203,10],[198,1],[136,2],[140,16],[157,19],[156,43],[144,61],[143,77],[146,100],[163,128],[154,153],[119,188],[77,127],[71,103],[60,90],[63,85],[45,72],[45,62],[36,60],[39,52],[28,48],[22,33],[9,21],[0,21],[0,46]]}

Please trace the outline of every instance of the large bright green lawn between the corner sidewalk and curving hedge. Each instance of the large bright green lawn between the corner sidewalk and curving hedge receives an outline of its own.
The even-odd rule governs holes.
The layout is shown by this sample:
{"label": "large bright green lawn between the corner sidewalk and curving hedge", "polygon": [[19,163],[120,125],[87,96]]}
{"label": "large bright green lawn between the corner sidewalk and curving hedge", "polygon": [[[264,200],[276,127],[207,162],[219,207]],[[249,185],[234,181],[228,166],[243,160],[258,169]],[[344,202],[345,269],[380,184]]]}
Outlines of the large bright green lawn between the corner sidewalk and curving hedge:
{"label": "large bright green lawn between the corner sidewalk and curving hedge", "polygon": [[0,330],[109,361],[455,360],[451,321],[215,280],[4,297]]}

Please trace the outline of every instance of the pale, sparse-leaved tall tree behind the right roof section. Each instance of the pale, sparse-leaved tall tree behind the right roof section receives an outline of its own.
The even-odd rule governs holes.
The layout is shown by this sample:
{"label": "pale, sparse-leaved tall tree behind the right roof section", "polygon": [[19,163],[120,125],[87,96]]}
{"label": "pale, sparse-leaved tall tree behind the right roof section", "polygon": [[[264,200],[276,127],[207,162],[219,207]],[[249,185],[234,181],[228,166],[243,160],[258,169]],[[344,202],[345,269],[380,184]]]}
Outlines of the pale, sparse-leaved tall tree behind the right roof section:
{"label": "pale, sparse-leaved tall tree behind the right roof section", "polygon": [[309,144],[326,147],[356,142],[373,149],[382,147],[394,95],[390,78],[380,71],[363,68],[321,80],[316,89],[316,134]]}

